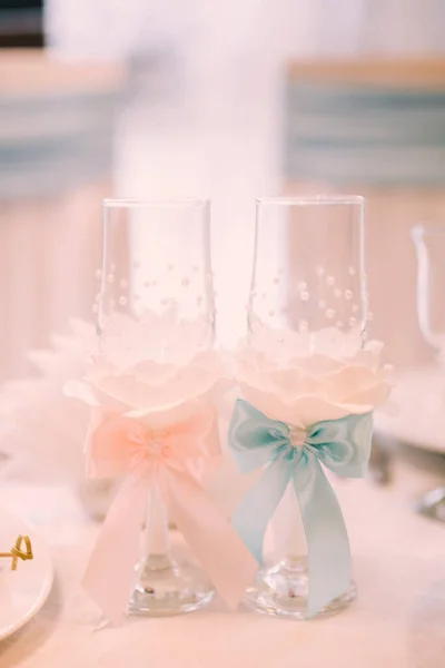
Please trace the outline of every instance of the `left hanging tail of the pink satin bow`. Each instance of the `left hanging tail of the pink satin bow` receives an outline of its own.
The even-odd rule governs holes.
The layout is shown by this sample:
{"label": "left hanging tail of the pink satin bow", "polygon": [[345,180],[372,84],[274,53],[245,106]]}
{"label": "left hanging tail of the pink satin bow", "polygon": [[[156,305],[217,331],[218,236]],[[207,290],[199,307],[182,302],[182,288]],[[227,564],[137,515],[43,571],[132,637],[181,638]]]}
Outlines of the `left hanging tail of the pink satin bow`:
{"label": "left hanging tail of the pink satin bow", "polygon": [[139,559],[147,504],[147,479],[128,475],[111,504],[90,556],[82,587],[103,615],[120,626]]}

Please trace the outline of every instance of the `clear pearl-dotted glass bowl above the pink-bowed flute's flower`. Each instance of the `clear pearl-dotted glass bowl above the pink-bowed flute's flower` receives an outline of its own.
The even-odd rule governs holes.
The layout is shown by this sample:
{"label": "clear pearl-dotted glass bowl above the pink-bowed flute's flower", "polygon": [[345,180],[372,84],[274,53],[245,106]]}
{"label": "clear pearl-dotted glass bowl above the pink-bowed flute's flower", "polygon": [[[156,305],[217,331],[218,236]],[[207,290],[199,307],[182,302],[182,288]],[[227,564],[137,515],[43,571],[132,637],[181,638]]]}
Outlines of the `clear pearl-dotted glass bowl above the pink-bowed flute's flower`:
{"label": "clear pearl-dotted glass bowl above the pink-bowed flute's flower", "polygon": [[181,363],[212,347],[209,210],[206,200],[105,200],[96,306],[105,355],[118,346],[123,362]]}

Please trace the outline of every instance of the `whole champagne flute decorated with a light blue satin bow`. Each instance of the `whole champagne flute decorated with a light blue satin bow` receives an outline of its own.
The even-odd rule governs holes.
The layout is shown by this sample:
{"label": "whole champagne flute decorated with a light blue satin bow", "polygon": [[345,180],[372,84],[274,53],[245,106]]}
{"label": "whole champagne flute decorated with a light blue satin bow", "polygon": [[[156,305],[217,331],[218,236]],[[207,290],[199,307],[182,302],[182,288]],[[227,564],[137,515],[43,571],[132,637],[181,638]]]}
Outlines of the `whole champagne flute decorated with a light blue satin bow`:
{"label": "whole champagne flute decorated with a light blue satin bow", "polygon": [[288,538],[246,592],[254,610],[305,619],[355,597],[346,527],[323,469],[362,477],[367,464],[372,419],[354,371],[367,317],[364,199],[258,200],[243,399],[229,444],[241,472],[264,473],[233,522],[263,563],[273,518],[283,523],[285,514]]}

